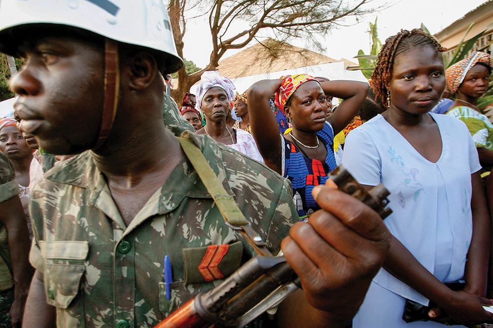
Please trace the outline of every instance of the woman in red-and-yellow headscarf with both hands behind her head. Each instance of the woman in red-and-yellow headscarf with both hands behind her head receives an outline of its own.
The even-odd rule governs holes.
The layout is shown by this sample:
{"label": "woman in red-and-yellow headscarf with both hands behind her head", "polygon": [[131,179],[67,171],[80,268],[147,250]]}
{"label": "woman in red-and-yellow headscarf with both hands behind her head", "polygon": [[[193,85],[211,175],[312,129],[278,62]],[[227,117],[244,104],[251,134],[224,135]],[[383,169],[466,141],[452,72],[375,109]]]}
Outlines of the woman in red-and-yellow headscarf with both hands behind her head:
{"label": "woman in red-and-yellow headscarf with both hands behind her head", "polygon": [[[276,105],[291,122],[292,130],[281,136],[269,105]],[[334,135],[342,131],[361,107],[368,84],[356,81],[319,82],[306,74],[262,80],[247,92],[251,131],[265,164],[291,180],[293,200],[303,220],[318,209],[312,190],[336,168]],[[344,99],[326,121],[326,94]]]}

